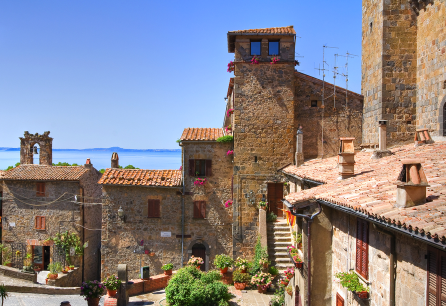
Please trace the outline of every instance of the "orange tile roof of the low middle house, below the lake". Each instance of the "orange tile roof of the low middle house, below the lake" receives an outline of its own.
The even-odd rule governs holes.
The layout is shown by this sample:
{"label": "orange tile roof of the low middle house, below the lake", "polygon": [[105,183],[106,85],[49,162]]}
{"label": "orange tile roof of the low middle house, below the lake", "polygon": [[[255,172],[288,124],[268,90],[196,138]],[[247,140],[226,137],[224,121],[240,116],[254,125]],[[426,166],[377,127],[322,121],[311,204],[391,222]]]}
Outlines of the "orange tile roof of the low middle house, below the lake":
{"label": "orange tile roof of the low middle house, below the lake", "polygon": [[145,170],[108,168],[99,184],[179,187],[181,170]]}

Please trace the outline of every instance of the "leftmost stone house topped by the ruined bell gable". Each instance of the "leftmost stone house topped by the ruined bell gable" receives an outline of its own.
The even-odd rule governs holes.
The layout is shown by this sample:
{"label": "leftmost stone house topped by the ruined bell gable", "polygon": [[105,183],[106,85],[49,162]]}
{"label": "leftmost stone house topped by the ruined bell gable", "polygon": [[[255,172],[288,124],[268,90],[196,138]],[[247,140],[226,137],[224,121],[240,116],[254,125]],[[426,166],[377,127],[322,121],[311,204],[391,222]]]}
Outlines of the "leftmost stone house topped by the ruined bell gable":
{"label": "leftmost stone house topped by the ruined bell gable", "polygon": [[[64,262],[64,255],[45,240],[68,230],[82,243],[88,242],[81,257],[73,256],[80,266],[75,277],[97,279],[100,259],[100,177],[90,160],[80,166],[52,166],[52,138],[49,132],[20,138],[20,161],[5,171],[2,182],[2,243],[9,244],[12,264],[23,266],[23,256],[31,253],[35,265],[47,269],[50,260]],[[40,145],[40,164],[32,164],[32,148]],[[98,203],[99,202],[99,203]],[[16,250],[20,252],[17,253]]]}

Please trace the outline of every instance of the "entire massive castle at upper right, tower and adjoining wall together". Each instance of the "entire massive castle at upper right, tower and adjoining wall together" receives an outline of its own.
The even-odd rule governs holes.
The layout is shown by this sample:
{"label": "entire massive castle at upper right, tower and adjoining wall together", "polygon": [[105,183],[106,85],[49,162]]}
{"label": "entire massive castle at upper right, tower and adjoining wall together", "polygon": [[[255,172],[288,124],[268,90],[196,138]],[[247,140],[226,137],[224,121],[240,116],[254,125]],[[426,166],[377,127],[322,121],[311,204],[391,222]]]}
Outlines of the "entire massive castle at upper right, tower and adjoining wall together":
{"label": "entire massive castle at upper right, tower and adjoining wall together", "polygon": [[389,144],[416,128],[445,136],[446,35],[443,0],[362,1],[362,145]]}

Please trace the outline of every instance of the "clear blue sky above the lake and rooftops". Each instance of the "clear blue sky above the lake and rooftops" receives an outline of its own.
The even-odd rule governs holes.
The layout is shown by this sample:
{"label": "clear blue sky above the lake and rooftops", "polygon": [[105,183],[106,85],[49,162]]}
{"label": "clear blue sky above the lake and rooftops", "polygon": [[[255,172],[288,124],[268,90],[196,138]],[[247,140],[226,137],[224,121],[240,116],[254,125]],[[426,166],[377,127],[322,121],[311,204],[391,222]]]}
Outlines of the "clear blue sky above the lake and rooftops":
{"label": "clear blue sky above the lake and rooftops", "polygon": [[0,1],[0,146],[50,130],[55,148],[178,148],[184,127],[222,125],[227,31],[286,25],[303,73],[323,44],[330,71],[359,55],[360,93],[361,1]]}

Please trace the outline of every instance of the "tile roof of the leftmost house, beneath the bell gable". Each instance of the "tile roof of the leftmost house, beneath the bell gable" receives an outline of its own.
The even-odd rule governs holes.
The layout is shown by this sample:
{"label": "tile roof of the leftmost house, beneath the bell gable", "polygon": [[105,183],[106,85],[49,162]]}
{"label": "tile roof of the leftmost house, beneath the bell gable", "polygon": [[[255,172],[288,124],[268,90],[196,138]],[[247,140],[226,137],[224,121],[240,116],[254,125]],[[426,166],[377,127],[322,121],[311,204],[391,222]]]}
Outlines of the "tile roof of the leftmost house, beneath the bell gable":
{"label": "tile roof of the leftmost house, beneath the bell gable", "polygon": [[1,179],[11,180],[67,180],[78,181],[88,172],[84,166],[49,166],[41,164],[21,164],[6,171]]}

